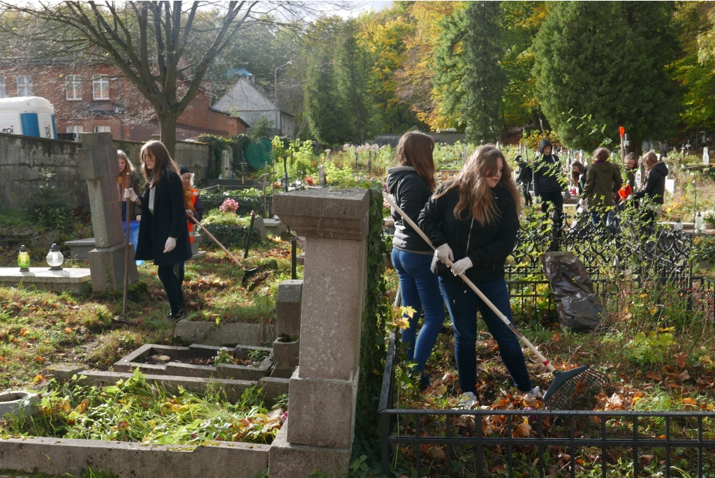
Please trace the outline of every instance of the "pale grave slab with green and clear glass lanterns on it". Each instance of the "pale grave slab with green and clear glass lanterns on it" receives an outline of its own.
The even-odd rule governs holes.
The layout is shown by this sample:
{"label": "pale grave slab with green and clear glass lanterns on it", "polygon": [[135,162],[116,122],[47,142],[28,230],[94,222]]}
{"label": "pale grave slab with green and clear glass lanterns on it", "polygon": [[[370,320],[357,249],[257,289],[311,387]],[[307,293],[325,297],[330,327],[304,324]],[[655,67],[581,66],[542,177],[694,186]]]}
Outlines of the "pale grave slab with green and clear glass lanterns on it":
{"label": "pale grave slab with green and clear glass lanterns on it", "polygon": [[89,269],[66,267],[51,271],[49,267],[30,267],[29,272],[20,272],[19,267],[0,267],[0,285],[4,287],[36,287],[46,291],[69,291],[81,294],[92,279]]}

